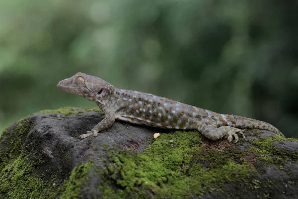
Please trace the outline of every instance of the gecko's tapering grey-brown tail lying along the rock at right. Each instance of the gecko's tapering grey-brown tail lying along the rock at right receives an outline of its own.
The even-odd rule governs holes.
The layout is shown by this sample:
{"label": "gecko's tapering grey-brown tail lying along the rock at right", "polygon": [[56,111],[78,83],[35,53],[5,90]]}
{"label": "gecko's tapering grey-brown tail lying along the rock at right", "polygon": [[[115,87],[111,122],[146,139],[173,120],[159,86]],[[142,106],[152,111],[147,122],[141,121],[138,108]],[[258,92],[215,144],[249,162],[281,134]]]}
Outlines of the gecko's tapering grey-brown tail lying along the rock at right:
{"label": "gecko's tapering grey-brown tail lying along the rock at right", "polygon": [[236,128],[268,130],[285,137],[285,135],[279,129],[277,129],[276,127],[274,127],[273,125],[267,122],[251,119],[247,117],[241,117],[238,115],[231,115],[231,116],[233,117],[233,121]]}

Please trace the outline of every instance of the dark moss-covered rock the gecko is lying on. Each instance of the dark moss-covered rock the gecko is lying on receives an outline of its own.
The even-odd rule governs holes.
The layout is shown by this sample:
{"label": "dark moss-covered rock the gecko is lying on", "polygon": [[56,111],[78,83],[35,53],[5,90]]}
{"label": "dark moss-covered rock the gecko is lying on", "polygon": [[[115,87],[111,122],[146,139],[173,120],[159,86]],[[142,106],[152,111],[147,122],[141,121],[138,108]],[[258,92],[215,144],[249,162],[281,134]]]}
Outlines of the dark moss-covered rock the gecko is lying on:
{"label": "dark moss-covered rock the gecko is lying on", "polygon": [[[115,122],[97,137],[78,136],[103,119],[95,108],[30,115],[0,139],[0,198],[249,198],[298,196],[298,143],[246,131],[237,144],[197,131]],[[154,140],[153,134],[161,135]]]}

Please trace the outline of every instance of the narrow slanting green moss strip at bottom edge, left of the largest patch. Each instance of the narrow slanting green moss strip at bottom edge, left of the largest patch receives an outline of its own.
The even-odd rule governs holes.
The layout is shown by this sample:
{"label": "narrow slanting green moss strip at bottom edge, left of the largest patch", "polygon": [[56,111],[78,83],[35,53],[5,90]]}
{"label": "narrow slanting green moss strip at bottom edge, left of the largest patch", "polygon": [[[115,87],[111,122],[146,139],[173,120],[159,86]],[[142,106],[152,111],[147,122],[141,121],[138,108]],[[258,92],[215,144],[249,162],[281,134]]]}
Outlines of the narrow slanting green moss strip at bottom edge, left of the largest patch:
{"label": "narrow slanting green moss strip at bottom edge, left of the largest patch", "polygon": [[81,164],[74,167],[70,179],[65,181],[65,191],[61,195],[60,199],[80,199],[83,196],[80,195],[80,191],[84,187],[84,183],[88,180],[88,174],[94,166],[93,161],[89,161],[86,164]]}

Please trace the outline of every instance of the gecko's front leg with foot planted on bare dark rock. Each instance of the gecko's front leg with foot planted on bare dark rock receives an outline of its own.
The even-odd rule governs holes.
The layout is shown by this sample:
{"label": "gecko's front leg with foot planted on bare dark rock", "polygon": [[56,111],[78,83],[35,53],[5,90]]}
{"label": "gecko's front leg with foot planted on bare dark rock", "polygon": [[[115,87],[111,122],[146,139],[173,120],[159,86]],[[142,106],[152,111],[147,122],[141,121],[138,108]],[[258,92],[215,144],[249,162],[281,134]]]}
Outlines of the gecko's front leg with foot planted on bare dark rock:
{"label": "gecko's front leg with foot planted on bare dark rock", "polygon": [[99,131],[102,131],[104,129],[107,129],[115,122],[115,110],[114,108],[105,108],[104,109],[105,118],[101,120],[98,124],[96,124],[92,130],[87,131],[85,134],[81,134],[79,138],[84,139],[86,137],[89,137],[90,135],[94,135],[94,137],[97,136],[97,133]]}

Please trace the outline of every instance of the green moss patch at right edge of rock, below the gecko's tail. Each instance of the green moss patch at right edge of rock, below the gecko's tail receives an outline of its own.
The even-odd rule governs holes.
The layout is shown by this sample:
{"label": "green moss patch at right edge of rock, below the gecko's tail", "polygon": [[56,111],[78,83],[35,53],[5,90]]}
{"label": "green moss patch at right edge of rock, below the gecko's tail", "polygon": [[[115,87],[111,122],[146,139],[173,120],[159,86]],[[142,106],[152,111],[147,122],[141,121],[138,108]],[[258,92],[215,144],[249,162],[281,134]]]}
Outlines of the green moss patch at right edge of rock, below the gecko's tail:
{"label": "green moss patch at right edge of rock, below the gecko's tail", "polygon": [[[277,149],[274,146],[275,142],[284,142],[284,141],[297,142],[297,139],[294,138],[285,138],[280,135],[275,135],[274,137],[262,137],[255,140],[249,140],[254,146],[252,150],[255,151],[255,154],[258,159],[264,161],[264,163],[279,163],[283,164],[288,160],[296,160],[297,152],[289,155],[281,149]],[[283,169],[282,165],[279,167]]]}

